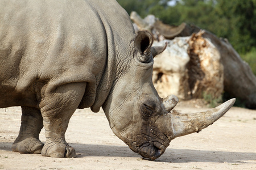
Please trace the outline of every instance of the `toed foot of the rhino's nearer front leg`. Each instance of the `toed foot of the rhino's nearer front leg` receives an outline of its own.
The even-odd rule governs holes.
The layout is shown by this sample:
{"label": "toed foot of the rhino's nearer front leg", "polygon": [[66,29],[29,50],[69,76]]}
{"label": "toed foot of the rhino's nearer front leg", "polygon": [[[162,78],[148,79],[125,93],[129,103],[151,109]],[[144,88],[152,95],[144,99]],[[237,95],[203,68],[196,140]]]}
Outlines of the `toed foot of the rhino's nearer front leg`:
{"label": "toed foot of the rhino's nearer front leg", "polygon": [[51,142],[44,145],[41,154],[42,156],[50,156],[55,158],[73,158],[76,155],[76,151],[67,143]]}

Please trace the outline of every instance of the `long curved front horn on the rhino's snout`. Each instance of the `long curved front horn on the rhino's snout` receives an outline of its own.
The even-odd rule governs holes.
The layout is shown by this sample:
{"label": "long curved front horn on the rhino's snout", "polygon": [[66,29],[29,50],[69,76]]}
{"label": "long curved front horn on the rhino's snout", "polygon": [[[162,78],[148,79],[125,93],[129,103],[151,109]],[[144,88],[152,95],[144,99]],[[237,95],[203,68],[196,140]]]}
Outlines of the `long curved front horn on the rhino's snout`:
{"label": "long curved front horn on the rhino's snout", "polygon": [[179,113],[172,111],[171,123],[172,123],[172,139],[183,135],[199,132],[201,129],[207,128],[212,125],[213,122],[223,116],[233,106],[236,99],[230,99],[220,106],[210,109],[205,112],[197,113]]}

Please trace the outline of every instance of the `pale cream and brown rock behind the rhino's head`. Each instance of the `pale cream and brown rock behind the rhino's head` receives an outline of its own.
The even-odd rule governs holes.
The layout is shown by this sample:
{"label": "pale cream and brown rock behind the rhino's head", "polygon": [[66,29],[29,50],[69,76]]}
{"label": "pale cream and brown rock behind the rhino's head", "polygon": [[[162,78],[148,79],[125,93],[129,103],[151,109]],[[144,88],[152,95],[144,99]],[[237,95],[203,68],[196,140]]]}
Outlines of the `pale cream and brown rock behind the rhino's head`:
{"label": "pale cream and brown rock behind the rhino's head", "polygon": [[224,67],[216,46],[202,37],[204,32],[191,37],[155,42],[167,49],[154,59],[153,82],[161,97],[176,95],[179,99],[213,98],[224,90]]}

